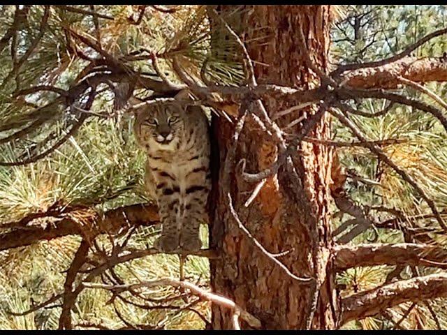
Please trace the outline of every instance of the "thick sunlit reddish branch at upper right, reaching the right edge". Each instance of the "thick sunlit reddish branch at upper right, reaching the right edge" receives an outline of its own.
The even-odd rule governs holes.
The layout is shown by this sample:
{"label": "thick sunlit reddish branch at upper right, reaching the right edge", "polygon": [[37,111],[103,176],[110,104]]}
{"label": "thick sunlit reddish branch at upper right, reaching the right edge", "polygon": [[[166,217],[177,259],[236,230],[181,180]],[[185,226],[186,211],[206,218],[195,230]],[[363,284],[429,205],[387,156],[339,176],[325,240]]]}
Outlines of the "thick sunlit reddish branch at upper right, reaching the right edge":
{"label": "thick sunlit reddish branch at upper right, reaching the right edge", "polygon": [[413,82],[445,82],[447,63],[437,57],[405,57],[383,66],[347,72],[342,82],[356,89],[397,89],[402,84],[399,77]]}

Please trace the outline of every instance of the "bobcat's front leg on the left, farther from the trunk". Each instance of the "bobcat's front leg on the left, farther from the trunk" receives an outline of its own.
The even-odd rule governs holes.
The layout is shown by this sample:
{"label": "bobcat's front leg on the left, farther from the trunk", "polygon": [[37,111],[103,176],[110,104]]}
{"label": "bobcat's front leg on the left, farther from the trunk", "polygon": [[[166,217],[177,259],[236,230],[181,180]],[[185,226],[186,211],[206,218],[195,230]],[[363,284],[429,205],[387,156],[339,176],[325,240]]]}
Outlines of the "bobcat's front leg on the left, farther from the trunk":
{"label": "bobcat's front leg on the left, farther from the trunk", "polygon": [[161,236],[154,242],[154,248],[172,252],[179,248],[179,188],[160,183],[156,186],[156,191],[162,228]]}

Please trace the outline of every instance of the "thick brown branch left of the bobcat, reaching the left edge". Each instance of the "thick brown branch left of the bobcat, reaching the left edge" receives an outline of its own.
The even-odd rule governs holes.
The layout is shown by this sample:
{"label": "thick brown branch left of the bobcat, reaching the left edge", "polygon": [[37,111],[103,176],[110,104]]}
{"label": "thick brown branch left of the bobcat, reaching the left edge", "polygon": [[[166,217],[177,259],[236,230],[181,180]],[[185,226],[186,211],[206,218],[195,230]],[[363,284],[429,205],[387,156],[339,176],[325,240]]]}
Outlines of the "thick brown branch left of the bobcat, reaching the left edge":
{"label": "thick brown branch left of the bobcat, reaching the left edge", "polygon": [[[39,218],[39,223],[36,225],[32,225],[33,221],[31,221],[24,227],[0,233],[0,251],[19,246],[29,246],[38,241],[56,239],[67,235],[85,234],[86,228],[82,228],[80,223],[71,218],[69,214],[69,212],[64,213],[64,218],[59,219],[59,221],[54,216],[47,216],[46,220],[45,218]],[[106,232],[118,232],[119,229],[129,225],[155,225],[159,223],[159,216],[154,205],[133,204],[107,211],[103,217],[96,214],[91,222],[91,227],[89,227],[91,234],[104,234]],[[7,223],[6,225],[14,226],[13,223]]]}

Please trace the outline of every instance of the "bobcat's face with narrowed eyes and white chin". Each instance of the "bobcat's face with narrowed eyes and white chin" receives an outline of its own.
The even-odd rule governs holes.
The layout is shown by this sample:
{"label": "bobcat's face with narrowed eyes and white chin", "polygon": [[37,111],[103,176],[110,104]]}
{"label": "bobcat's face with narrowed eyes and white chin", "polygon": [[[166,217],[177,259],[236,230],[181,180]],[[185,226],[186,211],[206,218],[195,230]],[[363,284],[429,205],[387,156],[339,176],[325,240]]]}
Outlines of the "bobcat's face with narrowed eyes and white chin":
{"label": "bobcat's face with narrowed eyes and white chin", "polygon": [[181,105],[159,103],[143,107],[137,114],[135,132],[143,146],[173,149],[184,131],[184,112]]}

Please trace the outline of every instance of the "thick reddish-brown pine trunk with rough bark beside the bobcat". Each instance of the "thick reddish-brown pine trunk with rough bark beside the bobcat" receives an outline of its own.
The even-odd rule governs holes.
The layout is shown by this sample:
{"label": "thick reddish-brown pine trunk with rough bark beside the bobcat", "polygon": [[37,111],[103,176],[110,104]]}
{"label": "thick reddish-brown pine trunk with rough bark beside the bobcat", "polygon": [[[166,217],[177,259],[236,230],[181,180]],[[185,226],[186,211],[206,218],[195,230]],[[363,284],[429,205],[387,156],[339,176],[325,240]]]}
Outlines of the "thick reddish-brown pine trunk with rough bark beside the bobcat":
{"label": "thick reddish-brown pine trunk with rough bark beside the bobcat", "polygon": [[[226,11],[235,9],[235,6],[219,7],[222,17]],[[305,64],[298,29],[303,31],[312,61],[325,71],[330,43],[330,6],[244,6],[240,22],[237,33],[245,40],[254,60],[258,84],[301,89],[312,89],[319,84]],[[273,96],[264,98],[263,103],[270,117],[291,107]],[[292,120],[314,112],[308,108],[291,112],[277,123],[287,133],[296,134],[306,119],[285,127]],[[214,136],[220,153],[220,181],[226,154],[234,144],[233,133],[234,124],[224,118],[214,120]],[[309,135],[329,138],[328,117],[318,121]],[[212,213],[211,244],[218,249],[221,260],[213,260],[211,264],[212,288],[255,315],[264,329],[337,327],[339,303],[330,260],[332,239],[328,216],[332,152],[328,147],[309,143],[301,143],[300,150],[292,158],[298,174],[295,182],[284,165],[278,174],[268,178],[249,207],[245,207],[244,202],[256,183],[247,183],[232,171],[230,190],[235,211],[249,232],[270,253],[289,251],[277,260],[295,276],[316,278],[311,284],[295,280],[268,258],[237,225],[222,188],[215,185],[213,191],[216,208]],[[245,171],[251,173],[269,168],[277,159],[277,145],[251,117],[245,122],[235,158],[236,164],[244,158],[247,161]],[[299,181],[298,186],[296,181]],[[318,301],[315,308],[312,308],[312,301]],[[213,306],[212,327],[232,329],[231,313]],[[242,320],[241,327],[249,326]]]}

